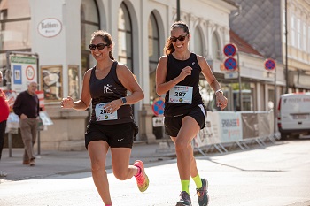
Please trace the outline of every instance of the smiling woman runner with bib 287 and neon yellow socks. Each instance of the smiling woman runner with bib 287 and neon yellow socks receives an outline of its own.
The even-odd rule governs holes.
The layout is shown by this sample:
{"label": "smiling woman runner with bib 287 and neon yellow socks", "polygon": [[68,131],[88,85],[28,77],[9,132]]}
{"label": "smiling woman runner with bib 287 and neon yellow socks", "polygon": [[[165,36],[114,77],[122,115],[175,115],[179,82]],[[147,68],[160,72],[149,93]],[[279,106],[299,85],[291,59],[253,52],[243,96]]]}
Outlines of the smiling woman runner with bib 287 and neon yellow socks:
{"label": "smiling woman runner with bib 287 and neon yellow socks", "polygon": [[177,166],[182,191],[179,205],[191,205],[190,177],[197,187],[198,202],[205,206],[209,202],[208,182],[201,179],[190,142],[198,131],[205,127],[206,109],[199,93],[200,73],[215,91],[216,102],[221,110],[227,105],[219,82],[215,79],[205,57],[190,52],[189,27],[182,21],[174,22],[164,52],[156,70],[156,92],[165,96],[165,134],[174,141]]}

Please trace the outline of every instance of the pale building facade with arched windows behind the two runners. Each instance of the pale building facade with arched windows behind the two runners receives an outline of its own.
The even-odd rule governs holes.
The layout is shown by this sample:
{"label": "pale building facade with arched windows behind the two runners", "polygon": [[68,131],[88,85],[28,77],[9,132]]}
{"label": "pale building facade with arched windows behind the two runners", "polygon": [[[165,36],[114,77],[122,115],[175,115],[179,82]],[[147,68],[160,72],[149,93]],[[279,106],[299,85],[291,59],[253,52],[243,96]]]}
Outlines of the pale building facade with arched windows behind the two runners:
{"label": "pale building facade with arched windows behind the two runners", "polygon": [[[211,65],[229,96],[227,110],[268,110],[268,102],[276,102],[272,93],[268,93],[275,88],[275,72],[265,70],[266,57],[251,45],[242,49],[245,38],[238,38],[236,33],[232,39],[229,16],[240,10],[237,4],[228,0],[180,2],[181,20],[189,25],[192,35],[190,50],[205,57]],[[113,56],[128,65],[145,94],[143,101],[133,106],[140,127],[136,141],[156,141],[151,109],[159,97],[155,92],[155,69],[176,17],[175,0],[1,0],[0,69],[5,78],[1,87],[7,88],[12,83],[7,56],[15,55],[12,52],[36,54],[39,90],[44,91],[45,110],[54,122],[41,134],[41,146],[83,149],[89,110],[63,110],[60,101],[67,95],[80,97],[83,73],[95,64],[88,49],[90,35],[98,29],[106,30],[114,41]],[[240,78],[228,78],[223,68],[226,57],[222,50],[231,41],[240,48]],[[276,77],[280,93],[285,85],[282,62],[277,65]],[[212,107],[213,91],[204,78],[200,86],[205,104],[216,110]],[[238,93],[242,98],[237,97]]]}

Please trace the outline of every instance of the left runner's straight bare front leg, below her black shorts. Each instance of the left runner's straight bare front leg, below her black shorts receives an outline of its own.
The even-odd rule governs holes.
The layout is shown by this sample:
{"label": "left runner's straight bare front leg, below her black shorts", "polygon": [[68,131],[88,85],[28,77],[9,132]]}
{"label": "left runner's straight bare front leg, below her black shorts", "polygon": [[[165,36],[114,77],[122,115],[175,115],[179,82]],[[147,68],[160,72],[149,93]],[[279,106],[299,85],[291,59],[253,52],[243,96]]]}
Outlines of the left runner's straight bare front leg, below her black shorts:
{"label": "left runner's straight bare front leg, below her black shorts", "polygon": [[105,141],[89,142],[89,158],[91,162],[92,177],[97,187],[97,191],[105,204],[112,204],[109,181],[105,171],[105,157],[109,145]]}

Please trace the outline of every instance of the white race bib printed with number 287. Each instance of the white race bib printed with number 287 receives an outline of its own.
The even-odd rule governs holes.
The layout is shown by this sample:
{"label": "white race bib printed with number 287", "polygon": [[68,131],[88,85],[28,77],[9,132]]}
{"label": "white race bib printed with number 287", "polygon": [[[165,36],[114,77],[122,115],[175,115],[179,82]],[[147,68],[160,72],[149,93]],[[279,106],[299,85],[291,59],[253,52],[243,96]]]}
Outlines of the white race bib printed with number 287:
{"label": "white race bib printed with number 287", "polygon": [[169,103],[191,103],[193,87],[174,86],[169,91]]}

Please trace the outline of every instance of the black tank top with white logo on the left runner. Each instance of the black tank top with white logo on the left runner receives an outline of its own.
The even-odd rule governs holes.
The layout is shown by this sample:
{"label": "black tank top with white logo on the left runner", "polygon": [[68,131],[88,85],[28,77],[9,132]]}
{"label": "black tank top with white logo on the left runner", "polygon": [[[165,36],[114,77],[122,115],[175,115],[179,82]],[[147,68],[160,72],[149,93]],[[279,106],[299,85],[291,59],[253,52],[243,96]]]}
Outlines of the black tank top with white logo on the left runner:
{"label": "black tank top with white logo on the left runner", "polygon": [[91,95],[92,111],[90,122],[100,125],[114,125],[133,121],[133,115],[130,105],[123,105],[117,111],[118,119],[96,120],[95,108],[97,103],[110,103],[113,100],[127,96],[127,89],[120,83],[117,77],[117,62],[113,62],[110,72],[102,80],[98,80],[95,74],[96,66],[91,69],[89,90]]}

